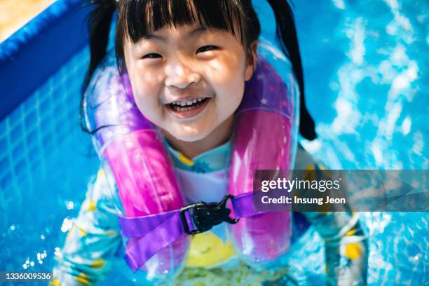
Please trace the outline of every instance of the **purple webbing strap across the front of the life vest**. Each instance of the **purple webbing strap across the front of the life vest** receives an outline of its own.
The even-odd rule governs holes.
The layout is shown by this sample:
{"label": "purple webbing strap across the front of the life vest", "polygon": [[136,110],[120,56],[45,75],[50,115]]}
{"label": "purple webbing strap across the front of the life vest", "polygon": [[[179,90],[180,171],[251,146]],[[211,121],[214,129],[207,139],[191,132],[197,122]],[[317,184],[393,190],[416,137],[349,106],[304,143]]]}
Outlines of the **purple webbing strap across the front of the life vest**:
{"label": "purple webbing strap across the front of the life vest", "polygon": [[[252,194],[252,192],[242,193],[232,198],[236,218],[263,213],[254,208]],[[143,217],[118,217],[122,235],[127,238],[139,238],[135,245],[127,247],[125,250],[124,259],[132,272],[137,271],[158,251],[175,242],[185,233],[180,219],[180,210],[170,210]],[[185,217],[189,230],[192,231],[195,227],[189,212],[185,212]]]}

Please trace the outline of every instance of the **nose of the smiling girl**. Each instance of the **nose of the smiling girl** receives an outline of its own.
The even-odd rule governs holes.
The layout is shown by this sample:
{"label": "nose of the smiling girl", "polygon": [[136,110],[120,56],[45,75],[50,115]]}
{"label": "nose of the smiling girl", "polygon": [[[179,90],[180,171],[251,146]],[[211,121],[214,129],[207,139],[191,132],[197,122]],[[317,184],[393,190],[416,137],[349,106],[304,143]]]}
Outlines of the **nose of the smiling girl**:
{"label": "nose of the smiling girl", "polygon": [[190,62],[172,60],[166,68],[165,86],[169,88],[186,88],[200,81],[200,74],[192,69]]}

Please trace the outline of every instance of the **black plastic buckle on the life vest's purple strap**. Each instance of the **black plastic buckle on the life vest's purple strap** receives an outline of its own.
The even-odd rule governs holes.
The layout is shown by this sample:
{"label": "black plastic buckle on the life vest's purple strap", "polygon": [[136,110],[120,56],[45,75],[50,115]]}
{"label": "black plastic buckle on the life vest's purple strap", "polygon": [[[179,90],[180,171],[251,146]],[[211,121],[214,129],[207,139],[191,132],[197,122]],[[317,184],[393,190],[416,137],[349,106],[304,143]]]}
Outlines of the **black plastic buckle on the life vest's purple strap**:
{"label": "black plastic buckle on the life vest's purple strap", "polygon": [[[185,232],[188,234],[203,233],[222,222],[236,224],[238,219],[229,217],[231,210],[226,207],[228,199],[233,197],[232,195],[226,195],[220,203],[200,202],[182,207],[180,209],[180,219],[182,219]],[[195,229],[192,231],[189,229],[188,222],[186,221],[186,212],[189,212],[191,215],[191,220],[195,226]]]}

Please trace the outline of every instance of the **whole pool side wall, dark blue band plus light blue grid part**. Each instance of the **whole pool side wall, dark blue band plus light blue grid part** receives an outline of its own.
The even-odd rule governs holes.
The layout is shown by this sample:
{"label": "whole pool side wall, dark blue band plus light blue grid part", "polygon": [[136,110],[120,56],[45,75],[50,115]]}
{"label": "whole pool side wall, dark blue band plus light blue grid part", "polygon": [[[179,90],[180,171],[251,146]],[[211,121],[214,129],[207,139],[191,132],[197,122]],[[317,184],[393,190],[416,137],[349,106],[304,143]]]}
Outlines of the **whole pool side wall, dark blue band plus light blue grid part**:
{"label": "whole pool side wall, dark blue band plus light blue grid part", "polygon": [[[35,177],[36,170],[46,171],[46,160],[79,126],[82,73],[89,56],[84,24],[88,8],[82,4],[57,1],[0,43],[0,204],[4,207],[23,189],[27,195],[34,191],[41,179]],[[8,218],[2,213],[4,222]]]}

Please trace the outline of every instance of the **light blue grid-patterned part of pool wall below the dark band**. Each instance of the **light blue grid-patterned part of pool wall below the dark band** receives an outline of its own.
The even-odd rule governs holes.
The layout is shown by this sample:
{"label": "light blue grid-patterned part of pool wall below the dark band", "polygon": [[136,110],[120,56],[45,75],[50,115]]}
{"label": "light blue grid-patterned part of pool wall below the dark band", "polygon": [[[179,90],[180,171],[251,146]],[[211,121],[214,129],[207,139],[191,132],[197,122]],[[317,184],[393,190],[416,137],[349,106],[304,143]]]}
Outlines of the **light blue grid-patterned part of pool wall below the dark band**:
{"label": "light blue grid-patterned part of pool wall below the dark band", "polygon": [[0,121],[0,189],[32,184],[34,170],[45,168],[55,147],[79,128],[82,75],[88,62],[84,48]]}

